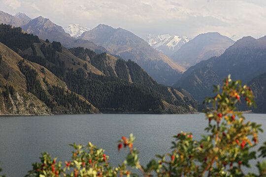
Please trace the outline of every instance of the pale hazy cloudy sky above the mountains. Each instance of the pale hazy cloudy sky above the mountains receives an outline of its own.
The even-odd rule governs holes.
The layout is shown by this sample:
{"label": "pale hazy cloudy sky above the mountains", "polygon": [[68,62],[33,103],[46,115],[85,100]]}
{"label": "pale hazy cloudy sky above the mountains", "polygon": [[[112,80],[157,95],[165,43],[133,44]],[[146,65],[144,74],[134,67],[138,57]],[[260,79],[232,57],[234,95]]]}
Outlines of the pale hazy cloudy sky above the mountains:
{"label": "pale hazy cloudy sky above the mountains", "polygon": [[213,31],[228,37],[266,35],[266,0],[0,0],[0,10],[43,16],[62,27],[106,24],[140,37],[191,38]]}

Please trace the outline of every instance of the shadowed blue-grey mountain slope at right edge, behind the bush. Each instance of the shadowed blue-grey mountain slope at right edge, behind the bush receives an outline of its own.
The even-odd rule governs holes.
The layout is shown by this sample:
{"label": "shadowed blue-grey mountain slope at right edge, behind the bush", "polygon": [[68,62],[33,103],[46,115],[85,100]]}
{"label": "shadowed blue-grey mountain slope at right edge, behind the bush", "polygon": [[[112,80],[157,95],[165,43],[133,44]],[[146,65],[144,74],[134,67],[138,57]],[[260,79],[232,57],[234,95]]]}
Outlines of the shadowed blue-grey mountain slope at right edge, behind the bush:
{"label": "shadowed blue-grey mountain slope at right edge, behind the bush", "polygon": [[175,86],[182,86],[198,101],[212,94],[212,85],[219,84],[231,74],[243,84],[266,72],[266,37],[243,37],[220,57],[200,61],[190,67]]}

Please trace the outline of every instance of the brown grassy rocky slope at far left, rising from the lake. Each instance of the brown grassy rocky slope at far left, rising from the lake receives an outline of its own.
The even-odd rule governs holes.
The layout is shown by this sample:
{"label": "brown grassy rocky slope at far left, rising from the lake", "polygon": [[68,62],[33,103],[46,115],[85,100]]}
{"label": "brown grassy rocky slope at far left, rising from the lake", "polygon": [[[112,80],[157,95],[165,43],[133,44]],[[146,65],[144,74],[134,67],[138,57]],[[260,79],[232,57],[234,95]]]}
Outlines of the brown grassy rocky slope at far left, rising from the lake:
{"label": "brown grassy rocky slope at far left, rising from the lake", "polygon": [[50,71],[0,43],[0,115],[62,113],[100,112]]}

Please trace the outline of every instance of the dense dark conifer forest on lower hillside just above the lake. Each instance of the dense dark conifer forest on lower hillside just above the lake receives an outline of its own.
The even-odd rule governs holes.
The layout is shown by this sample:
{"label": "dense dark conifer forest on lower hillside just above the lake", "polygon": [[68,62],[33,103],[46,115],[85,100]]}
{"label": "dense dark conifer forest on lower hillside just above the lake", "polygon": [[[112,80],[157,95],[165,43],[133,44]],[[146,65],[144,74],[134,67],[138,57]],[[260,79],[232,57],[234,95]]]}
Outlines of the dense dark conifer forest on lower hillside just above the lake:
{"label": "dense dark conifer forest on lower hillside just above the lake", "polygon": [[[67,86],[83,95],[101,111],[153,111],[163,108],[161,95],[145,86],[129,83],[115,77],[69,70]],[[80,87],[82,86],[82,87]]]}

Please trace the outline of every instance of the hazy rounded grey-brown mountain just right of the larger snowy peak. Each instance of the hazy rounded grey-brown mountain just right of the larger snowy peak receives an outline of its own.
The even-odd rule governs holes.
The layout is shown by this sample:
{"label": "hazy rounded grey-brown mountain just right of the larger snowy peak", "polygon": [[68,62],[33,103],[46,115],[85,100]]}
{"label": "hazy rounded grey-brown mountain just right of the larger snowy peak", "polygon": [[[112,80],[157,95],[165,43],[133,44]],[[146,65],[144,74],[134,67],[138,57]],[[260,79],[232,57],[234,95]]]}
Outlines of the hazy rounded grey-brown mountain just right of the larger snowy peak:
{"label": "hazy rounded grey-brown mountain just right of the larger snowy peak", "polygon": [[214,56],[220,56],[225,50],[232,46],[234,41],[218,32],[199,34],[188,43],[181,46],[171,59],[185,68],[197,64]]}

